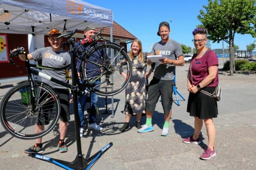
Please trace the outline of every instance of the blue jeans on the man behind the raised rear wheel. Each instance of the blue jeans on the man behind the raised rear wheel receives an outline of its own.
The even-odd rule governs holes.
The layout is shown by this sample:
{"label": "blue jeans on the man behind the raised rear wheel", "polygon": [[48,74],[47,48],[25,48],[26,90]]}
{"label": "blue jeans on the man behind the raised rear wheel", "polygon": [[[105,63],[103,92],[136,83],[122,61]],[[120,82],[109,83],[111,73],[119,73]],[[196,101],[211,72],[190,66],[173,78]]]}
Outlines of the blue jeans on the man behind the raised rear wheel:
{"label": "blue jeans on the man behind the raised rear wheel", "polygon": [[[98,85],[100,81],[96,81],[93,83],[93,85]],[[100,86],[98,86],[96,89],[99,90]],[[89,116],[89,124],[95,123],[96,120],[96,109],[98,107],[98,99],[99,95],[95,94],[93,92],[90,92],[90,113],[88,114]],[[84,96],[81,96],[78,98],[78,114],[80,118],[80,128],[84,127],[84,107],[86,105],[86,99],[87,99],[87,94]]]}

